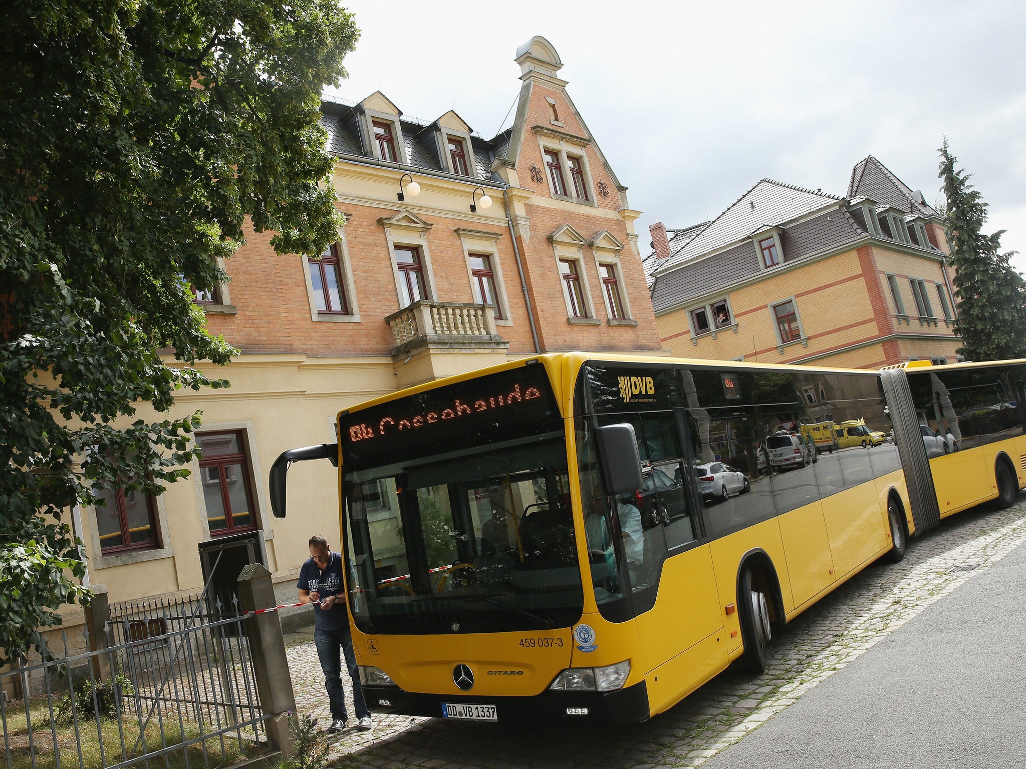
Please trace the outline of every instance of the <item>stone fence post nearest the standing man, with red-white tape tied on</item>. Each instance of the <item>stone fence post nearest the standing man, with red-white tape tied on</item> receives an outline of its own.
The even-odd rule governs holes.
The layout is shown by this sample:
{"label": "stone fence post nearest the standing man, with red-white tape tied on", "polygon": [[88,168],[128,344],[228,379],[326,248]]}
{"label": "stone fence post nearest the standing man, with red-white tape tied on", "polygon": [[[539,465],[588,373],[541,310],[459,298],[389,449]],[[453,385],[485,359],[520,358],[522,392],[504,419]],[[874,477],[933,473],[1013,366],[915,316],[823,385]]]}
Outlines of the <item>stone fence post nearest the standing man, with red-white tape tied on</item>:
{"label": "stone fence post nearest the standing man, with red-white tape tied on", "polygon": [[[275,605],[271,572],[263,564],[251,563],[239,572],[239,608],[242,611],[269,609]],[[292,755],[289,723],[295,713],[292,677],[288,673],[285,639],[278,612],[255,614],[246,620],[249,652],[253,660],[256,692],[264,711],[265,729],[271,747],[282,758]]]}

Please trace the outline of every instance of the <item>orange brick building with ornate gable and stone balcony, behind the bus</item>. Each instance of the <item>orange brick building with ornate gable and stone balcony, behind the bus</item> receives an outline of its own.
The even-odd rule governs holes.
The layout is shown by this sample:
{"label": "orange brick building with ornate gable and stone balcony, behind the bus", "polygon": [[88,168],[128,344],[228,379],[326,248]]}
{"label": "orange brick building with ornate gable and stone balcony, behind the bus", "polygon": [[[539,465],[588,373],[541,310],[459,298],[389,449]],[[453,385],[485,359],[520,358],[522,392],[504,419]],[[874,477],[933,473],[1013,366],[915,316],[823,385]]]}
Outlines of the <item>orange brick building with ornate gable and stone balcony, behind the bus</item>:
{"label": "orange brick building with ornate gable and stone balcony, behind the bus", "polygon": [[[112,490],[98,515],[82,511],[89,577],[112,602],[198,591],[218,553],[225,579],[259,559],[280,597],[294,595],[310,534],[339,543],[337,479],[327,463],[294,468],[289,518],[276,521],[267,473],[285,449],[333,442],[341,409],[539,352],[660,349],[640,212],[552,45],[535,37],[516,63],[515,117],[490,139],[452,111],[405,116],[381,92],[323,103],[346,224],[319,260],[279,256],[270,234],[249,233],[225,265],[231,281],[197,295],[241,355],[227,369],[199,364],[230,390],[177,397],[175,416],[204,412],[188,480],[155,499]],[[143,404],[139,416],[152,415]]]}

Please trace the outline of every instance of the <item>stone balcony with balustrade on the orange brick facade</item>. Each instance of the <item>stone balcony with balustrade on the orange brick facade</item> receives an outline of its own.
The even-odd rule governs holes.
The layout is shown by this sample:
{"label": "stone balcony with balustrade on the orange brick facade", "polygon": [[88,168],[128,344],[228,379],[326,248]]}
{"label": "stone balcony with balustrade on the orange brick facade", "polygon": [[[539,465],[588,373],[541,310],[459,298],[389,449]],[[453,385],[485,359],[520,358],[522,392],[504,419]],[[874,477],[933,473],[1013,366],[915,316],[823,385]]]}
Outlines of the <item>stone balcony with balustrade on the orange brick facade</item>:
{"label": "stone balcony with balustrade on the orange brick facade", "polygon": [[[505,356],[510,343],[496,331],[496,319],[487,305],[458,301],[415,301],[385,318],[395,347],[392,360],[433,353],[490,353]],[[487,365],[483,361],[479,365]]]}

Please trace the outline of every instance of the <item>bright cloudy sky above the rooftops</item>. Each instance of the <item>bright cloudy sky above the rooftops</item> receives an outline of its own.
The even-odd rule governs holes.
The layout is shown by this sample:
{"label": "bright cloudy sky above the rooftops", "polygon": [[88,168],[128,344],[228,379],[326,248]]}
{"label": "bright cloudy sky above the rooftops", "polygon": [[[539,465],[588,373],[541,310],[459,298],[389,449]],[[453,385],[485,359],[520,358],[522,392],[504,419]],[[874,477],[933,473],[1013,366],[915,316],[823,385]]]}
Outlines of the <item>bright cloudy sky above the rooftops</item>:
{"label": "bright cloudy sky above the rooftops", "polygon": [[875,155],[941,199],[947,135],[1026,271],[1026,3],[424,3],[343,0],[362,37],[336,91],[455,109],[490,137],[545,36],[629,189],[641,243],[714,216],[761,177],[843,195]]}

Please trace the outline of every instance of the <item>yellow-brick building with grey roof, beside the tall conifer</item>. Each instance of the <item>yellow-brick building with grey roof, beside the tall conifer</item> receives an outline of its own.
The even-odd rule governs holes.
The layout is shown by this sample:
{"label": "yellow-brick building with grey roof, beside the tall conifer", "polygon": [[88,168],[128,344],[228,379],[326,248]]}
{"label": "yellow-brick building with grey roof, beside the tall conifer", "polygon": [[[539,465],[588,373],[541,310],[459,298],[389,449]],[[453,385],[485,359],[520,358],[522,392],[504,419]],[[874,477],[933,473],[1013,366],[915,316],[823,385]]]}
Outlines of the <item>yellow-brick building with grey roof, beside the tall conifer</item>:
{"label": "yellow-brick building with grey roof, beside the tall conifer", "polygon": [[873,156],[843,198],[762,179],[710,221],[650,232],[645,271],[675,356],[855,368],[956,359],[943,218]]}

